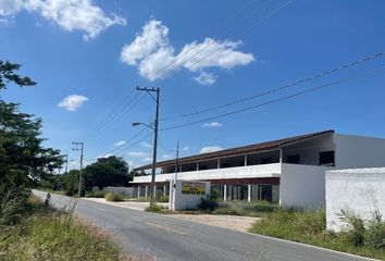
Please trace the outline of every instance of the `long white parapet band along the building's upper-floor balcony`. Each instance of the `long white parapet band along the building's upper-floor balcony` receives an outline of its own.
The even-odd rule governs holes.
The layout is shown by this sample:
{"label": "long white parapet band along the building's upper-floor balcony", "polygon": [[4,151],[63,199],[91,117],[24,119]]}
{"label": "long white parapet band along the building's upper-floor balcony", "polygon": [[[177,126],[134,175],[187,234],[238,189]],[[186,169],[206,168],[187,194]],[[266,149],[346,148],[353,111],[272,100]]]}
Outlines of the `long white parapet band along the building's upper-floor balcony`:
{"label": "long white parapet band along the building's upper-floor balcony", "polygon": [[[280,176],[281,164],[263,164],[250,166],[236,166],[206,171],[181,172],[177,174],[178,179],[185,181],[210,181],[210,179],[224,179],[224,178],[247,178],[247,177],[272,177]],[[169,182],[174,179],[175,174],[157,175],[157,182]],[[132,183],[150,183],[151,176],[134,177]]]}

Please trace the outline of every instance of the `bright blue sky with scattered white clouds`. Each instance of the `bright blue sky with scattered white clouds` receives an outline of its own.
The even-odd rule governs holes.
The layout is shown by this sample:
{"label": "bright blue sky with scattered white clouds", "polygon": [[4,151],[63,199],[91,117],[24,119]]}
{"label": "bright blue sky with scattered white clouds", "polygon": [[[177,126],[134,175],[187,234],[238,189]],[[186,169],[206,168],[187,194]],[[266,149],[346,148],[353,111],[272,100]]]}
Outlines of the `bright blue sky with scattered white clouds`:
{"label": "bright blue sky with scattered white clouds", "polygon": [[156,102],[137,86],[160,88],[158,160],[177,141],[185,157],[325,129],[385,138],[384,13],[381,0],[0,0],[0,60],[37,82],[1,98],[41,117],[71,167],[72,141],[86,164],[151,162],[151,129],[132,123],[150,125]]}

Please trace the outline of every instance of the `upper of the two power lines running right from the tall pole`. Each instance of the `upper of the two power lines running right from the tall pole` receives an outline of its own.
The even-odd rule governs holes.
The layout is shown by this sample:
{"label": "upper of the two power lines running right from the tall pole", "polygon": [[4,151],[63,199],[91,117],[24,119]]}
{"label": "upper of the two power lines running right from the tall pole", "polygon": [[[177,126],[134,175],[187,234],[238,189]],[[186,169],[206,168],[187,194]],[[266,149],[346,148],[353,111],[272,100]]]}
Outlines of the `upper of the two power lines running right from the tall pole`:
{"label": "upper of the two power lines running right from the tall pole", "polygon": [[365,57],[363,59],[360,59],[358,61],[340,65],[340,66],[338,66],[336,69],[328,70],[328,71],[315,74],[315,75],[313,75],[311,77],[308,77],[308,78],[305,78],[305,79],[300,79],[300,80],[294,82],[291,84],[287,84],[287,85],[281,86],[281,87],[275,88],[275,89],[263,91],[263,92],[260,92],[260,94],[257,94],[257,95],[253,95],[253,96],[250,96],[250,97],[246,97],[246,98],[243,98],[243,99],[239,99],[239,100],[234,100],[234,101],[221,104],[221,105],[210,107],[210,108],[207,108],[207,109],[203,109],[203,110],[199,110],[199,111],[195,111],[195,112],[190,112],[190,113],[185,113],[185,114],[181,114],[181,115],[176,115],[176,116],[164,117],[164,119],[161,119],[160,121],[170,121],[170,120],[176,120],[176,119],[182,119],[182,117],[188,117],[188,116],[192,116],[192,115],[197,115],[197,114],[201,114],[201,113],[219,110],[219,109],[222,109],[222,108],[226,108],[226,107],[229,107],[229,105],[234,105],[234,104],[237,104],[237,103],[241,103],[241,102],[245,102],[245,101],[249,101],[249,100],[252,100],[252,99],[257,99],[257,98],[260,98],[260,97],[263,97],[263,96],[266,96],[266,95],[271,95],[273,92],[277,92],[277,91],[281,91],[281,90],[284,90],[284,89],[288,89],[290,87],[294,87],[294,86],[297,86],[297,85],[301,85],[301,84],[305,84],[305,83],[308,83],[308,82],[311,82],[311,80],[314,80],[314,79],[331,75],[333,73],[336,73],[336,72],[339,72],[339,71],[356,66],[358,64],[368,62],[370,60],[374,60],[374,59],[381,58],[384,54],[385,54],[385,52],[378,52],[378,53]]}

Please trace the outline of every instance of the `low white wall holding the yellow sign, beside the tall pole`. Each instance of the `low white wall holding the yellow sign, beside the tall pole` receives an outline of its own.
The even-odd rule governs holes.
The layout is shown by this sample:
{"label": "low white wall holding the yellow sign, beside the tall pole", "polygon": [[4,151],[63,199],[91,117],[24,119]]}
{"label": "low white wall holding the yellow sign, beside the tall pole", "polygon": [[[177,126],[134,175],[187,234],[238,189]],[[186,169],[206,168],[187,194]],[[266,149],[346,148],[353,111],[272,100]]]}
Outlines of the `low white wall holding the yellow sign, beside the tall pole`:
{"label": "low white wall holding the yellow sign, beside the tall pole", "polygon": [[[182,192],[182,183],[190,181],[176,181],[175,189],[170,189],[170,207],[172,210],[197,209],[202,198],[210,196],[210,182],[194,182],[201,183],[206,187],[204,195],[188,195]],[[174,181],[170,182],[170,187],[173,188]],[[174,194],[175,192],[175,194]]]}

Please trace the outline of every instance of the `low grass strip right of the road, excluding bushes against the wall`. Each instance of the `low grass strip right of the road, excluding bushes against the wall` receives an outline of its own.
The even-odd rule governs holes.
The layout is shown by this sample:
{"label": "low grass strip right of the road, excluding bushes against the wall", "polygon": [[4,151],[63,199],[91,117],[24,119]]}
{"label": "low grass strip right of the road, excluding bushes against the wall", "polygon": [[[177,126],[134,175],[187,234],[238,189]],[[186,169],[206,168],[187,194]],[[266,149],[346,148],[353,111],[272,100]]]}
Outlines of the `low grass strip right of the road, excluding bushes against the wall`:
{"label": "low grass strip right of the road, excluding bushes against the wall", "polygon": [[[325,223],[324,210],[303,212],[300,210],[280,209],[268,213],[264,219],[254,223],[250,232],[385,260],[385,245],[375,248],[371,244],[363,241],[357,244],[357,231],[355,228],[334,233],[326,231]],[[383,228],[380,229],[384,229],[384,227],[383,224]],[[378,233],[380,237],[381,233],[383,233],[382,237],[385,243],[385,231]],[[362,237],[365,237],[364,233]]]}

